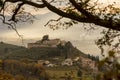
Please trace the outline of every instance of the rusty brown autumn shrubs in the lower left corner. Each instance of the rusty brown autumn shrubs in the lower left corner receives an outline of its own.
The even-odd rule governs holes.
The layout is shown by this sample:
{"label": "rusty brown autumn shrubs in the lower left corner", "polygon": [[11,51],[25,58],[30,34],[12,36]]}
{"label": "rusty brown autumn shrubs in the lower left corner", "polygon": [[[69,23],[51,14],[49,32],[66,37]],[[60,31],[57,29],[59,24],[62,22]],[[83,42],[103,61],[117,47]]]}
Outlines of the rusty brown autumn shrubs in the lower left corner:
{"label": "rusty brown autumn shrubs in the lower left corner", "polygon": [[20,77],[21,80],[24,80],[24,77],[26,78],[29,76],[35,76],[37,78],[43,78],[45,80],[49,79],[44,67],[36,63],[28,64],[17,60],[4,60],[3,70],[7,73],[16,75],[15,78]]}

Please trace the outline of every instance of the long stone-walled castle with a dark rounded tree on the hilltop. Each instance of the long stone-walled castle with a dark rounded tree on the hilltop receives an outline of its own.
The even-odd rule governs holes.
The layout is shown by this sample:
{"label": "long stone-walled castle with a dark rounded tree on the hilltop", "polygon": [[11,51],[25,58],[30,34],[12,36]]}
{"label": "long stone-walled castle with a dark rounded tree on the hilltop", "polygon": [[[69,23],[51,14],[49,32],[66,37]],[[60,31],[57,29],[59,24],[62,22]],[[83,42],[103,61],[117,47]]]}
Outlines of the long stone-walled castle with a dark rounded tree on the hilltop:
{"label": "long stone-walled castle with a dark rounded tree on the hilltop", "polygon": [[28,48],[34,47],[57,47],[57,45],[65,45],[65,41],[60,39],[49,39],[49,35],[44,35],[42,40],[36,41],[35,43],[28,43]]}

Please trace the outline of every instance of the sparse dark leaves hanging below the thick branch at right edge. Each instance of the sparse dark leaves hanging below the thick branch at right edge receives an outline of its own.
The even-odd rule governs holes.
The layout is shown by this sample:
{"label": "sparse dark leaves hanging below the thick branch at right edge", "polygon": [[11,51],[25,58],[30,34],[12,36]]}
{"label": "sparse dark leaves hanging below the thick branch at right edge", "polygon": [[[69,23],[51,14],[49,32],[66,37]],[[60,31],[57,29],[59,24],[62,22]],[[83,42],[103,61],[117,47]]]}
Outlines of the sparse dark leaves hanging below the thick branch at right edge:
{"label": "sparse dark leaves hanging below the thick branch at right edge", "polygon": [[103,53],[104,53],[105,47],[111,50],[113,49],[117,53],[119,53],[120,32],[112,29],[108,29],[108,30],[103,30],[101,34],[103,36],[96,41],[96,45],[98,46],[98,48],[101,49],[102,55],[104,56]]}

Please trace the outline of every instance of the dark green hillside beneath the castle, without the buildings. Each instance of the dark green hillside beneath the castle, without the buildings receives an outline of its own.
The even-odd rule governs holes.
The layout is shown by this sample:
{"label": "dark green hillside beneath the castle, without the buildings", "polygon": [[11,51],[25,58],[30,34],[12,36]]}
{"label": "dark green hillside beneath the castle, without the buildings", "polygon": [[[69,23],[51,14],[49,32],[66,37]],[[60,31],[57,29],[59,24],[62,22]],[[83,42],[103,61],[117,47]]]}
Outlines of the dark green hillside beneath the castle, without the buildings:
{"label": "dark green hillside beneath the castle, without the buildings", "polygon": [[24,48],[11,44],[2,43],[0,44],[1,57],[3,59],[47,59],[58,57],[61,59],[65,58],[75,58],[76,56],[87,57],[86,54],[73,47],[73,45],[68,42],[68,45],[64,47],[33,47]]}

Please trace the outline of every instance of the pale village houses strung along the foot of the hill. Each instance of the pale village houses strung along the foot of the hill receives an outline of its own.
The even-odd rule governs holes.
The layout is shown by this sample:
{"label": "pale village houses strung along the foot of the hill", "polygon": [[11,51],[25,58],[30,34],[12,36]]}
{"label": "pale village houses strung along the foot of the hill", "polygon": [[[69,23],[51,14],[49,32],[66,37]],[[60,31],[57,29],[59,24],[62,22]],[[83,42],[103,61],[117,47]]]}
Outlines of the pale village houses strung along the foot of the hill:
{"label": "pale village houses strung along the foot of the hill", "polygon": [[84,57],[76,57],[75,59],[67,58],[63,60],[59,65],[57,65],[56,63],[51,63],[48,60],[38,60],[38,64],[42,64],[46,67],[73,66],[74,63],[76,62],[79,62],[83,68],[92,69],[95,71],[98,70],[95,61],[88,59],[88,58],[84,58]]}

